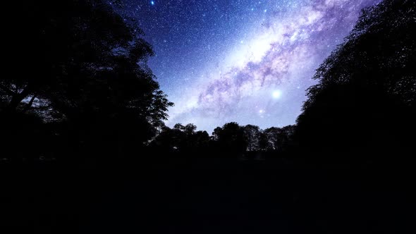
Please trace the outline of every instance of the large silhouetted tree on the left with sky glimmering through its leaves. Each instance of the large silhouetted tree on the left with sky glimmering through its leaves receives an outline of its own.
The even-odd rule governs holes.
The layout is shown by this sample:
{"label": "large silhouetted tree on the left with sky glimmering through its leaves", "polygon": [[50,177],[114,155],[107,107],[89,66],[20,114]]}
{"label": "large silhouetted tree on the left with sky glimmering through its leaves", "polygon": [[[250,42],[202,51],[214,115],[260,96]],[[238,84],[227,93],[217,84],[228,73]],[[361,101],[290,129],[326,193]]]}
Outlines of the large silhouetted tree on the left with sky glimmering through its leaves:
{"label": "large silhouetted tree on the left with sky glimmering through its leaves", "polygon": [[13,4],[25,25],[9,28],[2,115],[65,122],[73,149],[135,147],[156,133],[173,104],[147,67],[153,51],[139,28],[104,0]]}

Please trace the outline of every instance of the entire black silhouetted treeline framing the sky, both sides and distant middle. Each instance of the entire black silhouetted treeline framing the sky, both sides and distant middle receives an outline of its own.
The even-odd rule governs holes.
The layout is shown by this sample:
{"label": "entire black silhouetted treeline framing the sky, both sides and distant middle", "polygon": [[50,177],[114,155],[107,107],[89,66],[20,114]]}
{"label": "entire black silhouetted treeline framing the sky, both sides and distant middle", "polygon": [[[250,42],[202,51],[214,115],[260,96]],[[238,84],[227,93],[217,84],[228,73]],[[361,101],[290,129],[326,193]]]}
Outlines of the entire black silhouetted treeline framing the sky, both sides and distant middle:
{"label": "entire black silhouetted treeline framing the sky, both sides and distant middle", "polygon": [[211,137],[192,124],[164,125],[173,104],[147,67],[152,47],[109,1],[9,4],[23,25],[4,29],[0,158],[137,157],[152,150],[416,155],[416,1],[384,0],[362,11],[317,69],[295,125],[226,123]]}

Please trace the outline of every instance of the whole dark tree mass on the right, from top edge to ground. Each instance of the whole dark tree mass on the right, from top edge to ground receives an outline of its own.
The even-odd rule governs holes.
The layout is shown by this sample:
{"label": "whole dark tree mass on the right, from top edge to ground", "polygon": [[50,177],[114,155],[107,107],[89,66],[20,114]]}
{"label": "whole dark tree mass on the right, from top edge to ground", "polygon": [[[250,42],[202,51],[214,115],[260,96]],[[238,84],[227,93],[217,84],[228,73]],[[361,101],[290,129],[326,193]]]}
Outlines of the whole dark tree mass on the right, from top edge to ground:
{"label": "whole dark tree mass on the right, from top edge to ground", "polygon": [[353,31],[317,69],[295,137],[321,152],[405,150],[415,130],[415,1],[362,11]]}

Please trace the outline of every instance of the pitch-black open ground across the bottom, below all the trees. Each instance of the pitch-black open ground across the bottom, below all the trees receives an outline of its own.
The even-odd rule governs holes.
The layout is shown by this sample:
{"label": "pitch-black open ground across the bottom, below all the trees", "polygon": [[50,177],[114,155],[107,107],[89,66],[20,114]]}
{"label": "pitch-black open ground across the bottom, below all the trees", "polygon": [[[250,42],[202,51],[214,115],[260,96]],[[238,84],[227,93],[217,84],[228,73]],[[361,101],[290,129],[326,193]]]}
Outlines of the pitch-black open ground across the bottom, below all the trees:
{"label": "pitch-black open ground across the bottom, below all the trees", "polygon": [[317,166],[287,159],[65,165],[2,164],[1,229],[415,233],[409,167]]}

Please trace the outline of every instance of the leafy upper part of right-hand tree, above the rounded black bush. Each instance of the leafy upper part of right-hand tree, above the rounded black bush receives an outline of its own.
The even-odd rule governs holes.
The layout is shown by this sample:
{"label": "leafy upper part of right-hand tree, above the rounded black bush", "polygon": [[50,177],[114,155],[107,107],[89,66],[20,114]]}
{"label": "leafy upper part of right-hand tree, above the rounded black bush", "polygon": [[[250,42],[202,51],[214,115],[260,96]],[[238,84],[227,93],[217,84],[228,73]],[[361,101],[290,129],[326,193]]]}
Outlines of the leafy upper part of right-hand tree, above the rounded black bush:
{"label": "leafy upper part of right-hand tree, above the rounded black bush", "polygon": [[304,109],[334,85],[372,87],[414,106],[416,101],[416,3],[386,0],[365,8],[353,31],[314,75]]}

